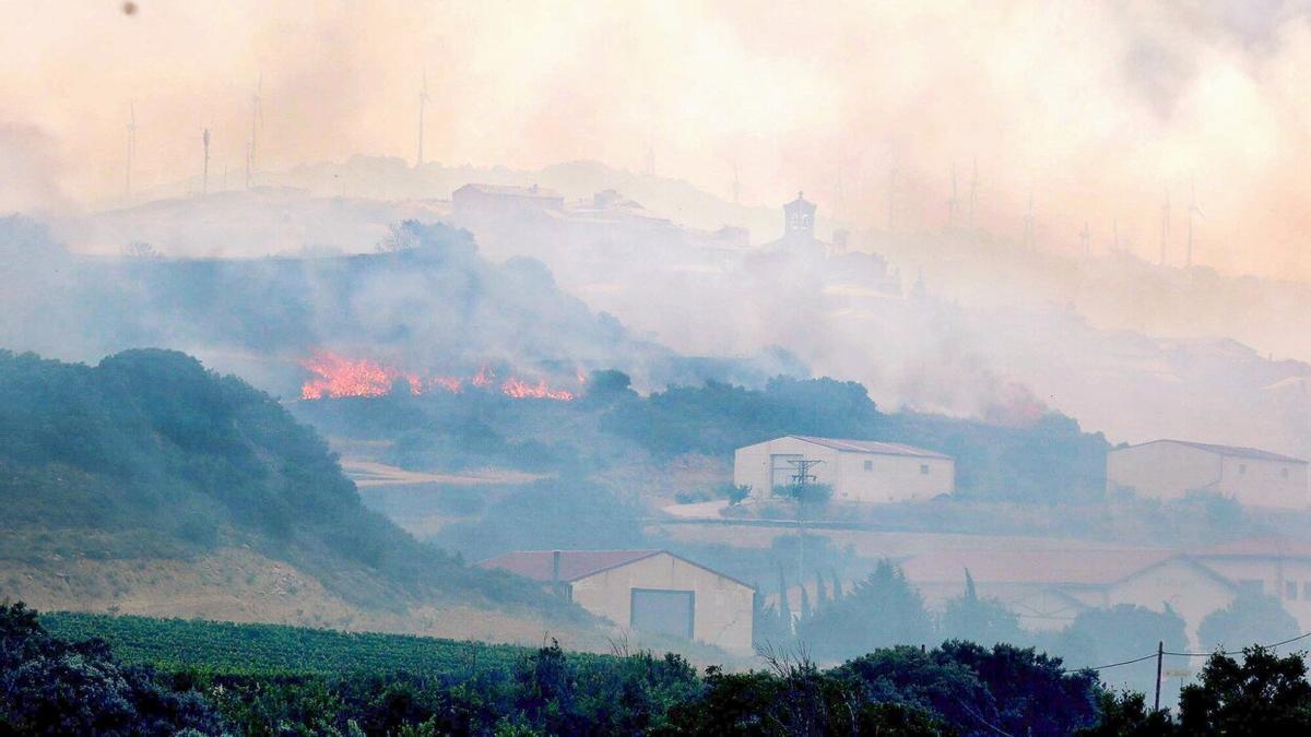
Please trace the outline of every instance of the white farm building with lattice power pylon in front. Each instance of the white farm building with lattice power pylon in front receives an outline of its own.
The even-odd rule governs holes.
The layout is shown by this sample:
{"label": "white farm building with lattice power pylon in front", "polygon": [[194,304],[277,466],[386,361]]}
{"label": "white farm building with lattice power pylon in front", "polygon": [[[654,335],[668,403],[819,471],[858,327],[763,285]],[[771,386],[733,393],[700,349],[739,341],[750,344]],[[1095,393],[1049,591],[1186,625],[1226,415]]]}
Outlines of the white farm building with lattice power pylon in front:
{"label": "white farm building with lattice power pylon in front", "polygon": [[832,487],[835,501],[893,502],[926,500],[956,489],[956,462],[949,455],[898,443],[785,435],[738,448],[733,483],[767,498],[777,487],[797,483],[798,462],[809,466],[809,483]]}

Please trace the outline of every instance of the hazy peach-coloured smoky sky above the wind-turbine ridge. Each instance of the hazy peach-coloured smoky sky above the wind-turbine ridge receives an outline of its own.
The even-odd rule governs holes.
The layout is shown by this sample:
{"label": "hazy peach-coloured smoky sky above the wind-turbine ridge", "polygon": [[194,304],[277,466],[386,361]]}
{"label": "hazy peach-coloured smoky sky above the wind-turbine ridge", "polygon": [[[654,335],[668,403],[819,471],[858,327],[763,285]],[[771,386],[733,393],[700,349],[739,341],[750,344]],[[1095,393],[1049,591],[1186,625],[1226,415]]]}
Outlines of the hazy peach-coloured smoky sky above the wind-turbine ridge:
{"label": "hazy peach-coloured smoky sky above the wind-turbine ridge", "polygon": [[[0,0],[0,207],[240,177],[264,76],[260,168],[353,153],[540,167],[597,159],[777,203],[797,189],[882,227],[945,220],[978,161],[979,220],[1044,245],[1155,258],[1189,182],[1197,261],[1311,277],[1306,4],[1232,3],[189,3]],[[839,185],[842,198],[839,201]]]}

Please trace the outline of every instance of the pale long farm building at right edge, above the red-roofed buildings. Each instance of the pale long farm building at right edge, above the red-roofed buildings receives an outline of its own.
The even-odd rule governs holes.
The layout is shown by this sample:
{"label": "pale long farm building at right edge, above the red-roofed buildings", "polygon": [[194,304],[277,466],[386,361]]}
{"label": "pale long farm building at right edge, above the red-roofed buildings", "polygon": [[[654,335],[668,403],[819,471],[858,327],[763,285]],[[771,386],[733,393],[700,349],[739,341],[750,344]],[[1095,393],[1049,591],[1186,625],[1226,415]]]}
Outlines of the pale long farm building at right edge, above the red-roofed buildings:
{"label": "pale long farm building at right edge, above the red-roofed buildings", "polygon": [[1152,441],[1106,454],[1106,490],[1156,498],[1219,492],[1252,506],[1306,508],[1307,462],[1265,450]]}

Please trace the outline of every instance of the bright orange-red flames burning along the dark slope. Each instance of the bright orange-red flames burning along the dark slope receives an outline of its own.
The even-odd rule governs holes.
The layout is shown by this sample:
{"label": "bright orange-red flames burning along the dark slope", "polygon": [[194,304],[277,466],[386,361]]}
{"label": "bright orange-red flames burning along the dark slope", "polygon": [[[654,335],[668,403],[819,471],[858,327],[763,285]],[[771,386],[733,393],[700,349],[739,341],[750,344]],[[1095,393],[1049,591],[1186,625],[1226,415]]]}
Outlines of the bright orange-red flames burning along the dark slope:
{"label": "bright orange-red flames burning along the dark slope", "polygon": [[[399,383],[408,386],[409,392],[416,396],[437,391],[459,393],[464,391],[465,383],[485,391],[499,388],[501,393],[513,399],[572,401],[578,396],[578,392],[551,387],[545,379],[530,382],[511,375],[499,380],[490,366],[482,366],[468,379],[452,375],[421,375],[367,358],[346,358],[328,350],[317,350],[309,358],[303,358],[300,366],[313,374],[300,386],[300,399],[304,400],[383,396],[392,392]],[[578,375],[582,376],[581,372]]]}

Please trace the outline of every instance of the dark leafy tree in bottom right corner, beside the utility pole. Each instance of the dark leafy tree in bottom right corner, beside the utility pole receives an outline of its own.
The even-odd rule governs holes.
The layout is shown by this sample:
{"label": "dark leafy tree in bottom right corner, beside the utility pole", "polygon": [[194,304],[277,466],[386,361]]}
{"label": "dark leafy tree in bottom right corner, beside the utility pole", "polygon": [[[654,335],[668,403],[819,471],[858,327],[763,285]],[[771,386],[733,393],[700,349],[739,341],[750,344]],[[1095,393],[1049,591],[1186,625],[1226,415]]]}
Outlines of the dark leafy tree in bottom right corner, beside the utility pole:
{"label": "dark leafy tree in bottom right corner, beside the utility pole", "polygon": [[1206,661],[1198,683],[1184,686],[1179,699],[1185,734],[1311,733],[1311,683],[1304,653],[1280,657],[1252,647],[1243,662],[1217,653]]}

